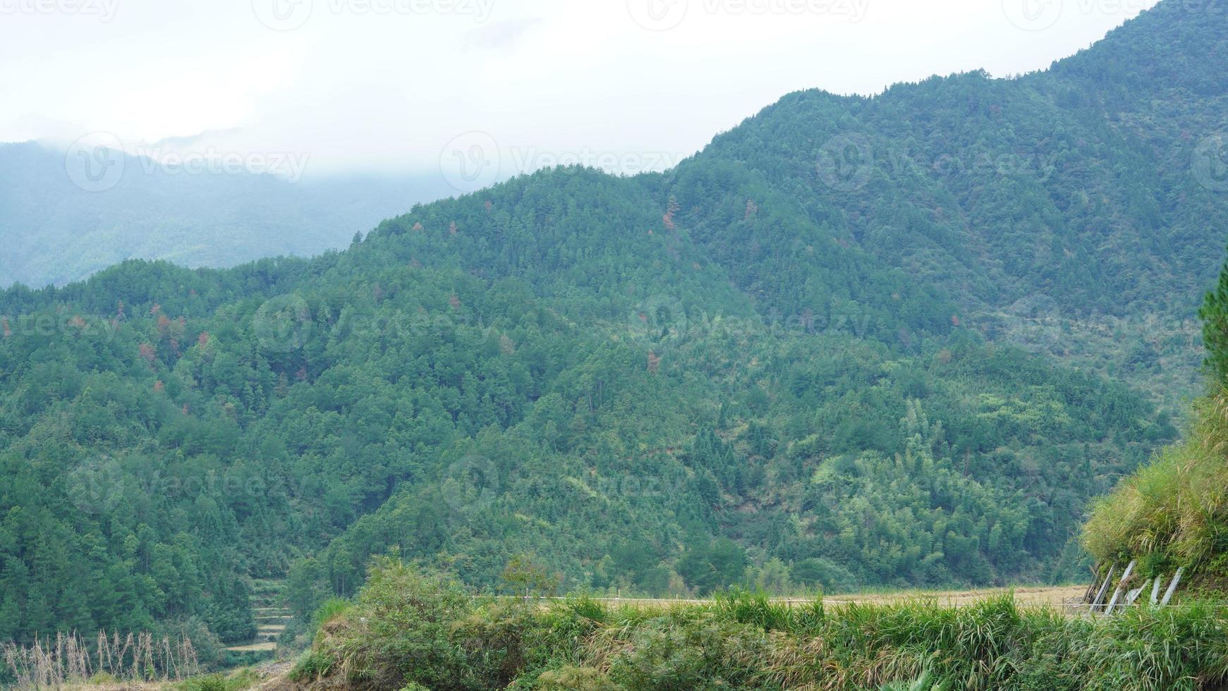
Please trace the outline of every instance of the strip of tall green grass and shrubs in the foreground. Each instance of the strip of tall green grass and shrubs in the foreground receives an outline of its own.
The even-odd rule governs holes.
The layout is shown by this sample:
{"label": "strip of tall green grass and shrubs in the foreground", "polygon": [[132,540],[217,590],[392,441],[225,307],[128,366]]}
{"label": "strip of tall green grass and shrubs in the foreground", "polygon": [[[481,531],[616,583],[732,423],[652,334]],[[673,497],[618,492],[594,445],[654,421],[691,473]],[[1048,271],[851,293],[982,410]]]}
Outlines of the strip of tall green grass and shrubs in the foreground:
{"label": "strip of tall green grass and shrubs in the foreground", "polygon": [[738,593],[673,608],[496,601],[382,558],[352,604],[323,612],[292,677],[432,691],[853,690],[919,679],[927,690],[1192,690],[1228,679],[1224,626],[1228,606],[1205,603],[1093,621],[1020,610],[1008,596],[965,609],[790,608]]}

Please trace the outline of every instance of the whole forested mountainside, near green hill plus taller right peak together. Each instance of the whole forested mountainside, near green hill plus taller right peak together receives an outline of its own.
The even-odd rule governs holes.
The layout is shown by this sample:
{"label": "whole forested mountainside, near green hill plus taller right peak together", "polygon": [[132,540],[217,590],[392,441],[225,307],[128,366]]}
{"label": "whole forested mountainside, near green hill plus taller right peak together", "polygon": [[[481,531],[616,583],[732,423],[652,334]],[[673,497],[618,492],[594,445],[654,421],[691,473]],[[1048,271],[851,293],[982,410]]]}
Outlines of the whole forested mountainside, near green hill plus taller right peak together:
{"label": "whole forested mountainside, near green hill plus taller right peak together", "polygon": [[1088,500],[1176,437],[1131,384],[1200,357],[1119,341],[1222,259],[1222,20],[792,95],[667,174],[543,171],[312,260],[0,293],[0,638],[241,639],[248,578],[305,615],[393,547],[645,594],[1082,577]]}

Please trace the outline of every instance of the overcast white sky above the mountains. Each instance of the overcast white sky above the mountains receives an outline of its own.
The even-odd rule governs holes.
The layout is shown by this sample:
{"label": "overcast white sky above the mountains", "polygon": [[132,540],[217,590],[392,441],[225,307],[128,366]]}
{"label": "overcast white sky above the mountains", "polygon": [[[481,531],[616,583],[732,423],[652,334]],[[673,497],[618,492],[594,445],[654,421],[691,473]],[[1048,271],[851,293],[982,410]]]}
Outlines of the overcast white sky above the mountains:
{"label": "overcast white sky above the mountains", "polygon": [[312,173],[437,171],[488,142],[503,176],[569,155],[661,168],[791,91],[1043,69],[1152,5],[0,0],[0,141],[212,131],[177,146]]}

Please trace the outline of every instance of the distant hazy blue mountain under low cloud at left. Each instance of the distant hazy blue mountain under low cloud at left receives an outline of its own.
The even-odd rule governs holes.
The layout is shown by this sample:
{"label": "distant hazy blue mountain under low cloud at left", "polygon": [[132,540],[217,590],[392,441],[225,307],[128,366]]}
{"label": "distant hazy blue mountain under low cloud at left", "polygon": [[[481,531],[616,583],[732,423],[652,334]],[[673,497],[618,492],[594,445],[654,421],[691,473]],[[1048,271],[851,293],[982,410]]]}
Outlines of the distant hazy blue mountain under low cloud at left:
{"label": "distant hazy blue mountain under low cloud at left", "polygon": [[[0,144],[0,287],[64,285],[125,259],[221,268],[311,257],[449,193],[426,176],[290,179],[210,172],[203,164],[166,167],[120,153],[111,155],[115,172],[104,173],[71,153],[37,142]],[[115,179],[98,178],[95,187],[86,166]]]}

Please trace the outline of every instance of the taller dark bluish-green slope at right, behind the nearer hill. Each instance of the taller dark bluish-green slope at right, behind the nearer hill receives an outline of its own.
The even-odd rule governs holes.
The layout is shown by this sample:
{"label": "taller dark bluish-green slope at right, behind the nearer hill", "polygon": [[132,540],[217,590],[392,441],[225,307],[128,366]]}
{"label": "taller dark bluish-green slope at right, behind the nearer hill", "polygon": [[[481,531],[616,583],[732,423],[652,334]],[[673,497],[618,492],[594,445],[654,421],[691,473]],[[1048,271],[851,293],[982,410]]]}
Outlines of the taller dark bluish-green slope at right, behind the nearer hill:
{"label": "taller dark bluish-green slope at right, behind the nearer hill", "polygon": [[[1047,72],[790,95],[669,189],[696,237],[726,243],[745,200],[775,193],[790,230],[829,238],[818,252],[868,253],[941,286],[991,339],[1174,405],[1197,392],[1191,296],[1223,257],[1223,20],[1162,2]],[[745,199],[696,204],[712,189]]]}

